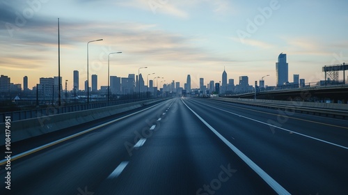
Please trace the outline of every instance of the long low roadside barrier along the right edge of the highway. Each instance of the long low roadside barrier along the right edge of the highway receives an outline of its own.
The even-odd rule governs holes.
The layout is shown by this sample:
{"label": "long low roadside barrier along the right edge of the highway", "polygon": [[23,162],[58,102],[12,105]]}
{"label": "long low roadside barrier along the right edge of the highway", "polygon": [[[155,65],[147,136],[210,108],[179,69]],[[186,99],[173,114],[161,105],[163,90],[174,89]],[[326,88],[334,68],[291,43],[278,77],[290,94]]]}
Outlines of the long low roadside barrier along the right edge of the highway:
{"label": "long low roadside barrier along the right edge of the highway", "polygon": [[[221,99],[220,99],[221,100]],[[264,107],[270,109],[280,109],[280,110],[288,110],[288,111],[298,111],[304,114],[319,114],[320,116],[333,116],[340,118],[348,119],[348,111],[347,110],[339,110],[339,109],[324,109],[324,108],[315,108],[315,107],[303,107],[296,105],[286,105],[286,104],[274,104],[274,103],[265,103],[265,102],[248,102],[248,101],[230,101],[226,102],[234,102],[237,104],[247,104],[255,107]],[[223,100],[225,101],[225,100]]]}

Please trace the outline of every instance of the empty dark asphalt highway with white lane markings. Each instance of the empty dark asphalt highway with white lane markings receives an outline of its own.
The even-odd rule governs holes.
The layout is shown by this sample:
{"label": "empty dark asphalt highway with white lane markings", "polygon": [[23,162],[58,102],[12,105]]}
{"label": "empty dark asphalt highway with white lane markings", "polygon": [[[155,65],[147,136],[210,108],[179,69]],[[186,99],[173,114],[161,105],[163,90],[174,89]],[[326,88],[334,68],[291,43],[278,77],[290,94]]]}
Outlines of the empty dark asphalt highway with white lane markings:
{"label": "empty dark asphalt highway with white lane markings", "polygon": [[13,143],[0,194],[348,194],[347,140],[347,120],[173,98]]}

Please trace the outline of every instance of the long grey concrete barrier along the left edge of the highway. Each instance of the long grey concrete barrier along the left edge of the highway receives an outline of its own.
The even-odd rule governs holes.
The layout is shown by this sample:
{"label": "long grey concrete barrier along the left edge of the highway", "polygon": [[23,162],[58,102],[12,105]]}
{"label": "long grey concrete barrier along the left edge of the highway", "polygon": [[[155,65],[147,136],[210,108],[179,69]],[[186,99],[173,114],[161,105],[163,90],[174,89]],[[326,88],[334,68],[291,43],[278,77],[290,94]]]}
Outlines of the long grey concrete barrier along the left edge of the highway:
{"label": "long grey concrete barrier along the left edge of the highway", "polygon": [[[144,100],[132,102],[128,104],[120,104],[113,107],[103,107],[99,109],[89,109],[84,111],[74,111],[66,114],[56,114],[53,116],[42,116],[39,118],[31,118],[26,120],[18,120],[11,123],[10,139],[11,142],[36,137],[49,132],[55,132],[67,127],[80,125],[92,120],[105,118],[125,111],[130,111],[144,105],[153,104],[161,100]],[[5,123],[0,123],[1,127],[5,127]],[[0,131],[0,145],[5,145],[5,131]]]}

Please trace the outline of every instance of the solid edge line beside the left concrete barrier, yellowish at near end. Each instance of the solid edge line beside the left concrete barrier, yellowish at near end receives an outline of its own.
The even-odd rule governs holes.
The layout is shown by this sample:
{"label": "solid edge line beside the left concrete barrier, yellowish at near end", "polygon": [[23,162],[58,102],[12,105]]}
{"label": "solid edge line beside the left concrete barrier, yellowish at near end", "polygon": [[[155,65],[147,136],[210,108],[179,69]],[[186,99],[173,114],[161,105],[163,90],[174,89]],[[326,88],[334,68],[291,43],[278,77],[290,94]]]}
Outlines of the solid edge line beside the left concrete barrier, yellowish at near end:
{"label": "solid edge line beside the left concrete barrier, yellowish at near end", "polygon": [[[159,104],[161,104],[161,102],[160,102]],[[54,146],[54,145],[56,145],[56,144],[58,144],[58,143],[61,143],[61,142],[63,142],[63,141],[67,141],[67,140],[72,139],[72,138],[74,138],[74,137],[78,137],[78,136],[80,136],[80,135],[82,135],[82,134],[86,134],[86,133],[91,132],[91,131],[93,131],[93,130],[97,130],[97,129],[100,128],[100,127],[104,127],[104,126],[106,126],[106,125],[110,125],[111,123],[115,123],[115,122],[117,122],[118,120],[122,120],[122,119],[124,119],[124,118],[128,118],[129,116],[133,116],[133,115],[135,115],[135,114],[139,114],[139,113],[141,113],[141,112],[143,112],[143,111],[146,111],[146,110],[148,110],[148,109],[152,109],[153,107],[156,107],[157,105],[158,105],[158,104],[155,104],[155,105],[153,105],[152,107],[148,107],[148,108],[143,109],[143,110],[141,110],[141,111],[136,111],[136,112],[134,112],[134,113],[132,113],[132,114],[129,114],[129,115],[127,115],[127,116],[122,116],[121,118],[117,118],[117,119],[115,119],[115,120],[111,120],[111,121],[109,121],[109,122],[107,122],[107,123],[104,123],[104,124],[102,124],[102,125],[97,125],[97,126],[92,127],[92,128],[90,128],[90,129],[88,129],[88,130],[84,130],[83,132],[79,132],[79,133],[76,133],[76,134],[72,134],[72,135],[70,135],[70,136],[68,136],[68,137],[65,137],[65,138],[62,138],[62,139],[58,139],[57,141],[52,141],[51,143],[47,143],[47,144],[45,144],[45,145],[43,145],[43,146],[39,146],[39,147],[37,147],[37,148],[33,148],[33,149],[31,149],[31,150],[28,150],[28,151],[26,151],[26,152],[23,152],[23,153],[20,153],[20,154],[18,154],[18,155],[13,156],[13,157],[11,158],[11,161],[14,161],[15,159],[19,159],[19,158],[21,158],[21,157],[25,157],[26,155],[30,155],[30,154],[32,154],[32,153],[36,153],[36,152],[38,152],[38,151],[40,151],[40,150],[42,150],[42,149],[49,148],[49,147]],[[1,160],[1,161],[0,161],[0,166],[3,165],[3,164],[6,164],[6,162],[7,162],[7,159]]]}

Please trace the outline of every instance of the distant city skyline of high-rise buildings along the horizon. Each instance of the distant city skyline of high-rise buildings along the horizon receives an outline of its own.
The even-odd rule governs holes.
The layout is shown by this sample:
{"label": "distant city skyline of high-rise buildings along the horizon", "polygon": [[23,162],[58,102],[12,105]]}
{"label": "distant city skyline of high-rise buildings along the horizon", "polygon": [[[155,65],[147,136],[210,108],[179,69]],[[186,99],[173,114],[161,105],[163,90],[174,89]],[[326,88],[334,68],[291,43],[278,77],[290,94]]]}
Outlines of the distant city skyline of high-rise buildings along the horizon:
{"label": "distant city skyline of high-rise buildings along the horizon", "polygon": [[[239,76],[238,81],[235,84],[235,79],[228,79],[228,74],[226,69],[223,68],[221,75],[221,81],[207,81],[204,78],[199,78],[199,86],[197,88],[192,87],[191,75],[187,75],[186,83],[183,86],[180,86],[180,82],[171,82],[163,83],[165,80],[160,77],[155,77],[149,79],[143,77],[143,75],[129,74],[128,77],[117,77],[110,76],[108,81],[108,86],[100,86],[98,88],[98,75],[91,75],[91,85],[88,85],[88,81],[84,81],[84,88],[79,86],[79,71],[73,71],[73,86],[72,89],[67,89],[67,81],[64,82],[62,77],[42,77],[40,78],[40,83],[33,86],[32,90],[28,88],[28,77],[23,78],[23,88],[22,84],[13,84],[10,82],[10,77],[6,75],[1,75],[0,77],[0,93],[1,94],[11,94],[11,96],[19,95],[22,93],[29,94],[31,97],[35,95],[39,97],[40,100],[56,100],[58,98],[58,83],[61,83],[61,94],[63,98],[70,100],[86,99],[86,92],[90,92],[92,97],[105,98],[106,95],[108,98],[110,95],[136,95],[138,98],[146,97],[165,97],[169,95],[211,95],[211,94],[223,94],[223,95],[232,95],[232,94],[241,94],[241,93],[250,93],[255,91],[255,86],[257,86],[258,91],[264,90],[275,90],[281,88],[299,88],[304,87],[305,79],[301,79],[299,75],[293,75],[293,81],[289,81],[289,64],[287,63],[287,55],[279,54],[278,61],[276,62],[276,86],[267,86],[264,82],[264,77],[259,81],[253,82],[253,85],[249,84],[248,76],[242,75]],[[269,75],[267,75],[269,76]],[[319,81],[320,84],[325,82]],[[161,87],[162,86],[162,87]],[[65,92],[65,95],[64,95]],[[14,94],[14,95],[12,95]],[[4,96],[4,95],[3,95]],[[29,95],[30,96],[30,95]],[[30,97],[29,97],[30,98]]]}

